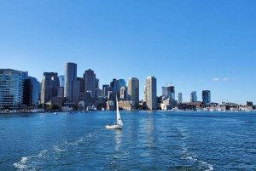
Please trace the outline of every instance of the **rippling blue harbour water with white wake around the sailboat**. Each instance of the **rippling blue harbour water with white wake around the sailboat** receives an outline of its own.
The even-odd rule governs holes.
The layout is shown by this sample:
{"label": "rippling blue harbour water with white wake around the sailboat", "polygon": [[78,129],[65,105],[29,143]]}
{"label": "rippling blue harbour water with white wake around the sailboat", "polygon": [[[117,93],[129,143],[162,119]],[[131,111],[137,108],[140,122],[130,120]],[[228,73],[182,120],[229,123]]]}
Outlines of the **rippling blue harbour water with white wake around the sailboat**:
{"label": "rippling blue harbour water with white wake around the sailboat", "polygon": [[1,170],[256,170],[256,112],[0,115]]}

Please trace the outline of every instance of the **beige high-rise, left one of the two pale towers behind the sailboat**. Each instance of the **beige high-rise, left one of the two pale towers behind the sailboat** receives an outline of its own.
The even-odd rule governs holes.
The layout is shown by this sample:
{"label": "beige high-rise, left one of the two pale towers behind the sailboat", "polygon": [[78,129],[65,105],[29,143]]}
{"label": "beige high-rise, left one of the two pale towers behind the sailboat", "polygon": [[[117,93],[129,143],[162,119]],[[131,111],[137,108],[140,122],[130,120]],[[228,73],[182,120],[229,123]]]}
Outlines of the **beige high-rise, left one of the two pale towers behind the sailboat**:
{"label": "beige high-rise, left one of the two pale towers behind the sailboat", "polygon": [[130,77],[127,85],[128,100],[134,102],[134,105],[139,104],[139,80],[137,77]]}

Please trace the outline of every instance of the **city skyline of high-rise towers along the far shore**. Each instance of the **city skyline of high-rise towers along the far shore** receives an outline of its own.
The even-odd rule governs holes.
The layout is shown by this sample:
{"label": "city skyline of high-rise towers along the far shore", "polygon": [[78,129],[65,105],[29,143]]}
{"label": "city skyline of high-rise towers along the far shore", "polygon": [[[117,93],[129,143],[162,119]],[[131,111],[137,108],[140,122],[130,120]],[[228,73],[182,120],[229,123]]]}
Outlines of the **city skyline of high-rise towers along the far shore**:
{"label": "city skyline of high-rise towers along the far shore", "polygon": [[[175,100],[175,87],[162,87],[162,95],[157,97],[157,80],[147,77],[144,82],[143,100],[139,100],[139,80],[137,77],[115,79],[100,88],[100,80],[96,73],[85,70],[82,77],[78,77],[77,64],[65,64],[64,75],[57,72],[44,72],[42,82],[35,77],[29,77],[27,71],[0,69],[0,108],[38,107],[38,105],[57,105],[75,109],[95,107],[98,110],[111,110],[115,98],[120,101],[119,106],[125,110],[134,108],[157,110],[172,109],[183,104],[181,93]],[[190,94],[190,102],[197,102],[196,92]],[[211,102],[211,92],[202,91],[202,102]]]}

